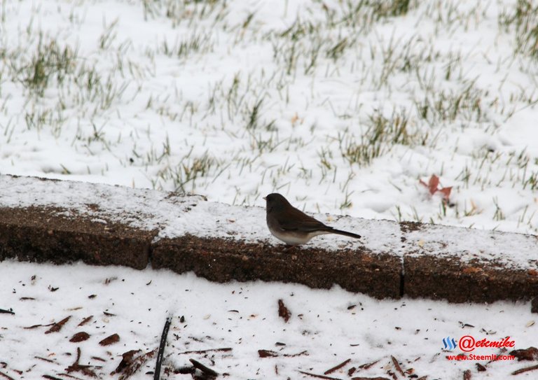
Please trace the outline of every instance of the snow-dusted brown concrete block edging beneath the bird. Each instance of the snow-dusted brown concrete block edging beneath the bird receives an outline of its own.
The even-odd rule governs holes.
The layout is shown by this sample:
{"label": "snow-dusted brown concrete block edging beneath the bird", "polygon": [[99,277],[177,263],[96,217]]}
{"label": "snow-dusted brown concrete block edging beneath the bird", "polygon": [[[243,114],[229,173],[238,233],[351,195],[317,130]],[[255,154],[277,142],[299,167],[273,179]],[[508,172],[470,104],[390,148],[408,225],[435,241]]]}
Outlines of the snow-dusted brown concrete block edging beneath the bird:
{"label": "snow-dusted brown concrete block edging beneath the bird", "polygon": [[260,207],[119,186],[0,176],[0,260],[148,263],[212,281],[338,284],[374,297],[452,302],[538,295],[533,235],[315,215],[357,231],[283,251]]}

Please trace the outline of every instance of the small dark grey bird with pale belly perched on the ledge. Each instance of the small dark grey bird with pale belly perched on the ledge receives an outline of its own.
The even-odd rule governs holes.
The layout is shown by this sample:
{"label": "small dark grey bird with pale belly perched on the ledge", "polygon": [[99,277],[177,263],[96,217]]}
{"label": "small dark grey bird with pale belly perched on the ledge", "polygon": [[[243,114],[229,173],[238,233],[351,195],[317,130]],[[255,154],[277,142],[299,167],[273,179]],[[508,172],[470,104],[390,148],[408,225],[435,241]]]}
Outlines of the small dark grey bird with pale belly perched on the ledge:
{"label": "small dark grey bird with pale belly perched on the ledge", "polygon": [[360,235],[336,230],[291,206],[286,198],[274,192],[264,197],[267,211],[267,226],[277,239],[291,246],[307,243],[312,237],[322,234],[339,234],[360,239]]}

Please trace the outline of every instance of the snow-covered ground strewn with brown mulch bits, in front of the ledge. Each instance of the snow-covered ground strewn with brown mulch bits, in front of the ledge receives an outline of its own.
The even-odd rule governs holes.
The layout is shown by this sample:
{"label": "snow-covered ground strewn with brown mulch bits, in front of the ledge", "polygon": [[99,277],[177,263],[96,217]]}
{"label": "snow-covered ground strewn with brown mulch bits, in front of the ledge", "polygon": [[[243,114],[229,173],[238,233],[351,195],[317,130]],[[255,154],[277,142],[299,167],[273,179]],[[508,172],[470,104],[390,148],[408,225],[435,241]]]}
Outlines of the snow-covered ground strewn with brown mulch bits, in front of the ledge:
{"label": "snow-covered ground strewn with brown mulch bits, in front of the ledge", "polygon": [[[2,268],[10,275],[0,276],[0,308],[11,307],[15,315],[0,314],[0,372],[14,379],[41,379],[43,374],[66,378],[61,374],[76,360],[77,347],[81,365],[90,365],[99,378],[109,378],[121,354],[158,347],[168,314],[173,319],[165,367],[179,369],[194,358],[221,374],[228,373],[228,379],[311,379],[298,371],[323,374],[347,359],[350,362],[331,377],[349,379],[347,370],[355,367],[353,376],[390,378],[388,372],[394,372],[404,378],[397,374],[391,356],[399,360],[402,370],[412,371],[408,375],[428,379],[462,379],[464,370],[471,370],[472,379],[506,379],[511,372],[533,364],[450,361],[446,356],[462,351],[445,350],[442,342],[446,337],[457,340],[464,335],[491,341],[509,336],[517,349],[535,346],[536,318],[526,303],[379,301],[337,287],[311,290],[279,283],[215,284],[193,274],[81,263],[57,267],[8,261]],[[288,323],[278,316],[279,299],[291,312]],[[50,326],[29,328],[67,316],[71,318],[60,332],[46,334]],[[88,323],[78,326],[89,316]],[[90,337],[69,342],[77,332],[87,332]],[[112,334],[120,336],[118,343],[99,345]],[[232,350],[186,353],[223,348]],[[258,350],[274,351],[276,357],[260,358]],[[472,353],[490,355],[499,349]],[[368,370],[359,368],[377,360]],[[475,363],[487,364],[487,371],[477,372]],[[155,358],[130,379],[153,378],[146,372],[154,367]],[[534,372],[517,378],[534,379]],[[90,379],[81,372],[70,374]]]}

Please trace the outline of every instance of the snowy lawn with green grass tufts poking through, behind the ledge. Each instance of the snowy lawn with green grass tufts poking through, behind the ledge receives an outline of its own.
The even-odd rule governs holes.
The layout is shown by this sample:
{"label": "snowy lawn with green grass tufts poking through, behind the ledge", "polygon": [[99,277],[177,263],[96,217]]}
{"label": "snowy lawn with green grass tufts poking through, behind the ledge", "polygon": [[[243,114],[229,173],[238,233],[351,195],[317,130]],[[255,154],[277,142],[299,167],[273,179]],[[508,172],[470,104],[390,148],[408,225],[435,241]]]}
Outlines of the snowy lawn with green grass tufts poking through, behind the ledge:
{"label": "snowy lawn with green grass tufts poking through, behind the ledge", "polygon": [[0,170],[536,233],[537,8],[4,1]]}

